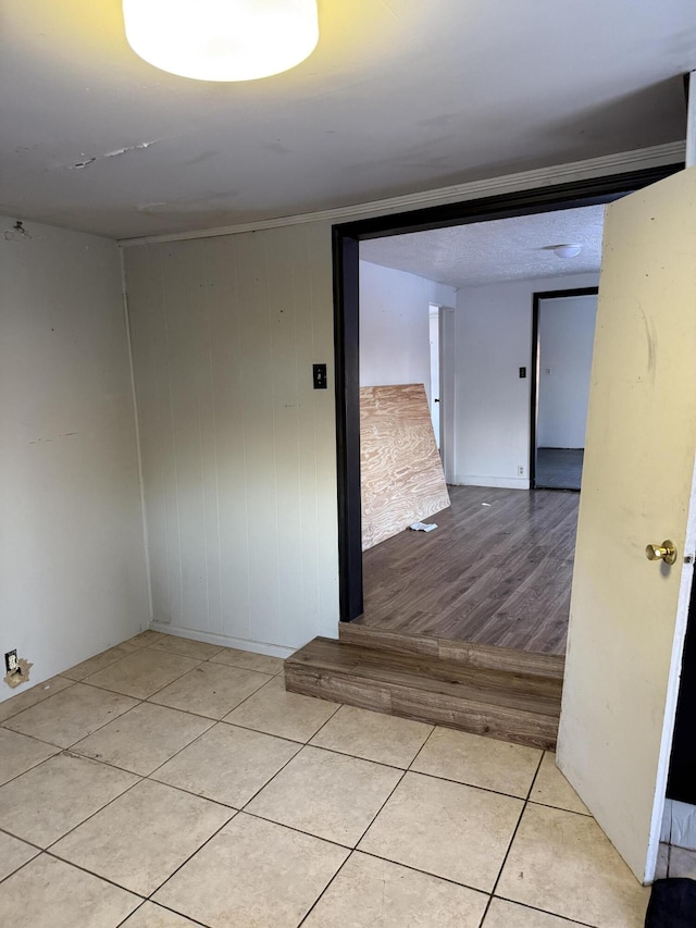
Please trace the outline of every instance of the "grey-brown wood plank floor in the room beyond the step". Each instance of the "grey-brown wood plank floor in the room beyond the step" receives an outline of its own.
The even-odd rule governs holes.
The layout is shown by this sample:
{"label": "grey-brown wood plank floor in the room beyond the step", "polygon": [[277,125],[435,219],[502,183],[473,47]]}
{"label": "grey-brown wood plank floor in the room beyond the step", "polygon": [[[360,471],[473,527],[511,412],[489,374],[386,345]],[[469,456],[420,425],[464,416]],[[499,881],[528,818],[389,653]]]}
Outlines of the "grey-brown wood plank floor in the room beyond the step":
{"label": "grey-brown wood plank floor in the room beyond the step", "polygon": [[[450,486],[451,508],[363,555],[372,628],[563,654],[577,493]],[[489,505],[483,505],[489,504]]]}

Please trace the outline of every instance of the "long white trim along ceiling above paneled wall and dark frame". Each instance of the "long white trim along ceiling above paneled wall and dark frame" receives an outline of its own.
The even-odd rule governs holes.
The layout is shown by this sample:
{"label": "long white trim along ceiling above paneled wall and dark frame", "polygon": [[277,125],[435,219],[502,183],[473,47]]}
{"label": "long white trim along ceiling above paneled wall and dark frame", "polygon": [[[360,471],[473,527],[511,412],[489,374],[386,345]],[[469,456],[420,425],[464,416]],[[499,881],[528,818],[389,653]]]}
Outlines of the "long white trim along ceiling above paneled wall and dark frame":
{"label": "long white trim along ceiling above paneled wall and dark frame", "polygon": [[551,168],[538,168],[534,171],[504,174],[500,177],[487,177],[483,181],[472,181],[468,184],[455,184],[450,187],[420,190],[419,193],[406,194],[401,197],[389,197],[366,203],[337,207],[336,209],[256,220],[236,225],[199,228],[190,232],[172,232],[163,235],[146,235],[139,238],[122,238],[119,240],[119,245],[122,248],[129,248],[134,245],[153,245],[160,242],[181,242],[189,238],[238,235],[243,232],[278,228],[286,225],[299,225],[304,222],[338,222],[375,213],[401,212],[409,209],[417,209],[418,207],[439,206],[442,203],[457,202],[458,200],[478,199],[496,194],[554,186],[593,176],[601,177],[607,174],[623,174],[629,171],[673,164],[676,161],[684,160],[685,150],[685,141],[670,141],[667,145],[656,145],[634,151],[605,154],[600,158],[587,159],[586,161],[569,161],[567,164],[556,164]]}

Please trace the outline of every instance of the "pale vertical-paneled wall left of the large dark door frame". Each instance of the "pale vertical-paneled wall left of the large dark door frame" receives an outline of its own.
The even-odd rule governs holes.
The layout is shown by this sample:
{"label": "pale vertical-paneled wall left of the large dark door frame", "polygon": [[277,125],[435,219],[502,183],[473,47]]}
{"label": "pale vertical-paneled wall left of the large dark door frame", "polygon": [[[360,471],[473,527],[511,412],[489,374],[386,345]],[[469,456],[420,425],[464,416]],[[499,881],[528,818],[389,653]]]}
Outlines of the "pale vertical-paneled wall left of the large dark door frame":
{"label": "pale vertical-paneled wall left of the large dark door frame", "polygon": [[281,647],[336,635],[330,227],[125,261],[156,622]]}

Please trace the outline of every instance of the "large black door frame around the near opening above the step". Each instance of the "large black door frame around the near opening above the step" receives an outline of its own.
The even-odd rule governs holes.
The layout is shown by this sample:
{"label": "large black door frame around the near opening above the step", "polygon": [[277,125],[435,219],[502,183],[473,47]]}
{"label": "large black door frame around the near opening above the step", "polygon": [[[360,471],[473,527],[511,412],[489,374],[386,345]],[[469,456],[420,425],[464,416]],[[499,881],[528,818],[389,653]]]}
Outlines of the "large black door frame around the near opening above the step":
{"label": "large black door frame around the near opening above the step", "polygon": [[480,197],[333,226],[338,570],[340,620],[363,610],[360,517],[359,243],[473,222],[608,203],[680,171],[683,163]]}

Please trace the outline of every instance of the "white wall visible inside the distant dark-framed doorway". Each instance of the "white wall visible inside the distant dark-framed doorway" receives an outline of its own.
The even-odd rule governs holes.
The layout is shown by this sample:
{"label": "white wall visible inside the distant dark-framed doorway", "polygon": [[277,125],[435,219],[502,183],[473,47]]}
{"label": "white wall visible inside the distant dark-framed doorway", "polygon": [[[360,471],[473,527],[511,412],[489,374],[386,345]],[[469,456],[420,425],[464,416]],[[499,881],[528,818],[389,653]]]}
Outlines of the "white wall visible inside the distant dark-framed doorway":
{"label": "white wall visible inside the distant dark-framed doorway", "polygon": [[596,317],[596,295],[539,300],[537,447],[585,447]]}

